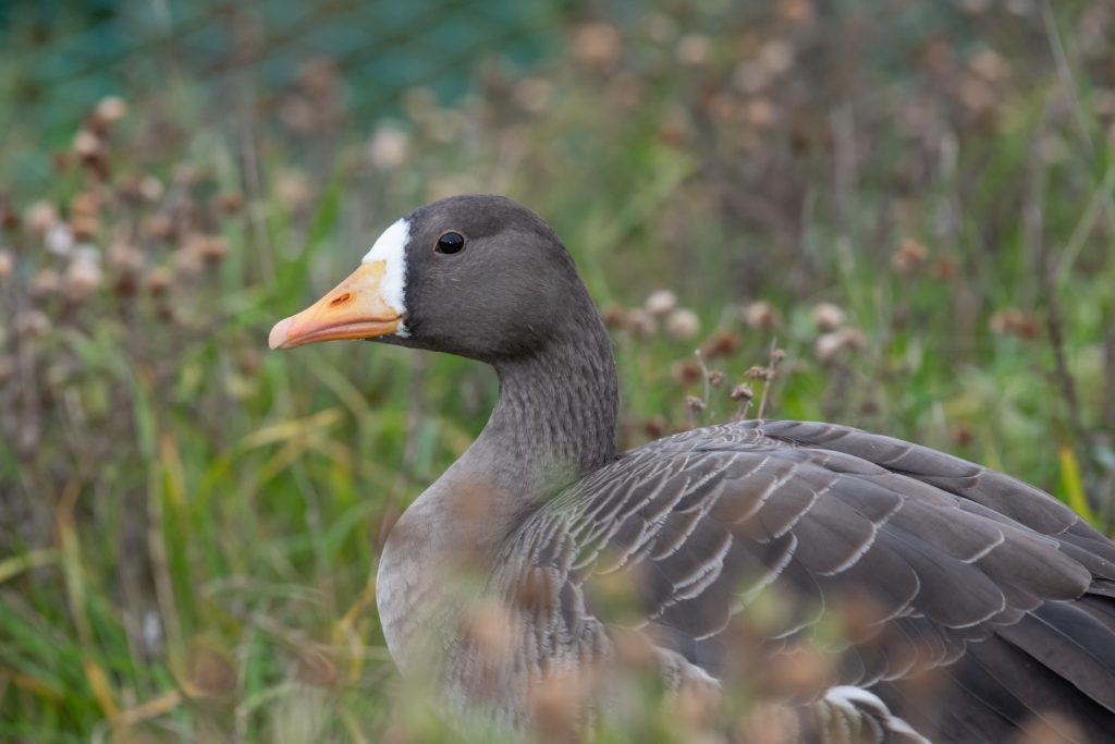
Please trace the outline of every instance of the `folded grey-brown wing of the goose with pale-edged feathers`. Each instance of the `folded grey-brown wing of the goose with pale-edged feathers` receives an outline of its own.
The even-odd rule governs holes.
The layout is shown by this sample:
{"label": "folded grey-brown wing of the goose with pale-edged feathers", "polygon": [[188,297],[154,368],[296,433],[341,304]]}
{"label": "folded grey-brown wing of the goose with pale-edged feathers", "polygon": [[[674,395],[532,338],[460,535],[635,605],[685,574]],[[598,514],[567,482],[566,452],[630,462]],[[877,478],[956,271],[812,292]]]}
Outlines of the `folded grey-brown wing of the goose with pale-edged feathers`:
{"label": "folded grey-brown wing of the goose with pale-edged feathers", "polygon": [[943,741],[1005,741],[1032,716],[1115,731],[1115,545],[927,447],[830,424],[696,429],[595,472],[512,545],[508,564],[555,583],[541,644],[608,617],[595,587],[630,587],[637,625],[712,677],[820,648],[814,699]]}

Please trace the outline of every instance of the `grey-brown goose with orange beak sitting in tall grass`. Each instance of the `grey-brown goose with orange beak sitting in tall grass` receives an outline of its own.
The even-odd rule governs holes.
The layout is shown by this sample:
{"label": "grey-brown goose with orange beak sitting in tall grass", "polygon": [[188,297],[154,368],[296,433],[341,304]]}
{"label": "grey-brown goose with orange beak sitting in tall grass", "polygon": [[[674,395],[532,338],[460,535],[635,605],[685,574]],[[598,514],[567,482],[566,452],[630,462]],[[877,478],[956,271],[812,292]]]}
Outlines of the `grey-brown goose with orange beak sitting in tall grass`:
{"label": "grey-brown goose with orange beak sitting in tall grass", "polygon": [[[629,658],[725,706],[725,680],[812,648],[823,671],[772,703],[786,741],[1115,736],[1115,543],[1010,476],[837,424],[740,421],[618,452],[609,335],[527,207],[411,212],[269,344],[337,339],[498,377],[487,424],[398,519],[376,576],[392,659],[450,709],[529,732],[539,692],[572,680],[591,721]],[[597,583],[624,589],[621,607]],[[840,638],[815,642],[833,621]]]}

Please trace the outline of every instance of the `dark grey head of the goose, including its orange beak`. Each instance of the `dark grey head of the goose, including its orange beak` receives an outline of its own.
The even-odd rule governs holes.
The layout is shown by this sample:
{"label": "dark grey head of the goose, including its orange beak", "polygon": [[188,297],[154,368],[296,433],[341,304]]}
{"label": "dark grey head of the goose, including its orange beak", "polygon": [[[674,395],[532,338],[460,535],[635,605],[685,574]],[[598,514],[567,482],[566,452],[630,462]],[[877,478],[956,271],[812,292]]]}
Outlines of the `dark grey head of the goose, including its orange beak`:
{"label": "dark grey head of the goose, including its orange beak", "polygon": [[541,218],[503,196],[452,196],[390,225],[352,274],[275,323],[269,344],[369,339],[498,364],[570,332],[585,306],[594,316]]}

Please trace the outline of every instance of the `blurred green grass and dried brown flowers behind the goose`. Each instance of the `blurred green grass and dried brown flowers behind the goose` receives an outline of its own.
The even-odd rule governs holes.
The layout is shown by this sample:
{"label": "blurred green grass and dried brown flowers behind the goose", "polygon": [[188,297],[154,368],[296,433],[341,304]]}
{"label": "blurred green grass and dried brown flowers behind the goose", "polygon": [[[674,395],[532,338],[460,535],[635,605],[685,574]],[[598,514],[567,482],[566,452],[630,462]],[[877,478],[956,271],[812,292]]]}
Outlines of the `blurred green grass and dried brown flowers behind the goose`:
{"label": "blurred green grass and dried brown flowers behind the goose", "polygon": [[453,193],[564,238],[624,446],[825,418],[1112,531],[1106,0],[7,2],[0,132],[0,742],[450,736],[369,577],[495,380],[265,339]]}

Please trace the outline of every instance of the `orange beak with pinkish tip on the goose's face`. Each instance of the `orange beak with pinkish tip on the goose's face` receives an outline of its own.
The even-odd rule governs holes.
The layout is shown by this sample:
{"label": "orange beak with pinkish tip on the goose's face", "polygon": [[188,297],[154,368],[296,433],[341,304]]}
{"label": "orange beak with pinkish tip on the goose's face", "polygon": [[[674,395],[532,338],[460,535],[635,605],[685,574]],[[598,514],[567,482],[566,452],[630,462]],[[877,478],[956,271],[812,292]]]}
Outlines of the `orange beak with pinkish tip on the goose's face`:
{"label": "orange beak with pinkish tip on the goose's face", "polygon": [[385,270],[384,261],[361,263],[320,300],[277,322],[268,345],[272,349],[293,349],[303,344],[394,334],[403,317],[380,294]]}

